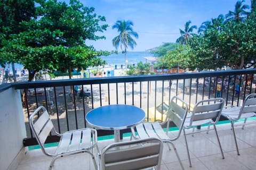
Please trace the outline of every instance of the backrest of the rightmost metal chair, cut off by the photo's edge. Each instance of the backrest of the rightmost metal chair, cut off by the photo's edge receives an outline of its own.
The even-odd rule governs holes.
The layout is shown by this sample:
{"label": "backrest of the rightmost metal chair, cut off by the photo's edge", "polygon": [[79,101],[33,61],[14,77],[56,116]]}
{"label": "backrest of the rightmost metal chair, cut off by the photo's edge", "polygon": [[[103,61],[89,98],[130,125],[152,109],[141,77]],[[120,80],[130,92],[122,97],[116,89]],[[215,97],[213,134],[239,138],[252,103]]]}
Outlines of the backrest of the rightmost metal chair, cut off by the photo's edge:
{"label": "backrest of the rightmost metal chair, cut off by the photo's edge", "polygon": [[256,98],[255,97],[256,97],[256,94],[250,94],[245,98],[244,103],[241,107],[238,119],[241,117],[242,114],[256,112]]}

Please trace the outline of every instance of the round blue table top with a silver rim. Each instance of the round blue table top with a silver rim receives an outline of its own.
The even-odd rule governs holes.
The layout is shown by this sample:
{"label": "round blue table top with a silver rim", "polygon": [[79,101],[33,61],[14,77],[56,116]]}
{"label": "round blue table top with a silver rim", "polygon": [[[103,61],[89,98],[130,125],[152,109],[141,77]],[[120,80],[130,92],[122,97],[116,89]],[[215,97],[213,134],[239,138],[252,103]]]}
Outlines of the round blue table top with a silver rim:
{"label": "round blue table top with a silver rim", "polygon": [[145,112],[131,105],[106,105],[92,109],[85,120],[94,128],[121,130],[141,123],[145,120]]}

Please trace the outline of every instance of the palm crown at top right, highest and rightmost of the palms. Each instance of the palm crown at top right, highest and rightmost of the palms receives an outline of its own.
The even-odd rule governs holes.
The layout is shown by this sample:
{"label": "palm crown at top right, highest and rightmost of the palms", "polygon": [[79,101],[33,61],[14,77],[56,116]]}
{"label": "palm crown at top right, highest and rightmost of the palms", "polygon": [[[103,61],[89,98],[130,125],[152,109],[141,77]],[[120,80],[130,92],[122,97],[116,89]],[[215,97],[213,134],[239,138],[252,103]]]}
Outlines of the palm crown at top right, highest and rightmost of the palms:
{"label": "palm crown at top right, highest and rightmost of the palms", "polygon": [[229,11],[228,14],[226,14],[227,21],[241,22],[246,19],[247,15],[250,14],[246,10],[248,10],[250,6],[244,5],[243,3],[244,3],[244,0],[236,2],[234,12]]}

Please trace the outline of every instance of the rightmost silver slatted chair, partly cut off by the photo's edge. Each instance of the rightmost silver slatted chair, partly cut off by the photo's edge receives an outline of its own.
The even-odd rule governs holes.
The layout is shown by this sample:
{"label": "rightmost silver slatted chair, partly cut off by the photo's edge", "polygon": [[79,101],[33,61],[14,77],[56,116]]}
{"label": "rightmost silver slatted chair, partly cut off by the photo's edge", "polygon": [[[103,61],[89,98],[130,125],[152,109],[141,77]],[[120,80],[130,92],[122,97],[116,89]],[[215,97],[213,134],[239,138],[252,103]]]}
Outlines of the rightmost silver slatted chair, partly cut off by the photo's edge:
{"label": "rightmost silver slatted chair, partly cut off by the photo's edge", "polygon": [[[247,118],[253,117],[256,115],[255,114],[255,112],[256,112],[256,98],[255,97],[256,97],[256,94],[250,94],[245,98],[243,105],[241,107],[231,106],[231,107],[223,108],[223,110],[222,110],[222,116],[228,118],[228,120],[231,123],[231,128],[233,130],[233,135],[234,135],[235,144],[236,144],[237,155],[240,155],[240,154],[238,151],[238,145],[237,145],[237,141],[236,141],[236,134],[235,134],[234,126],[242,125],[242,129],[244,129],[245,124],[256,123],[256,122],[246,122]],[[235,125],[235,121],[238,121],[241,118],[244,118],[244,123],[239,123],[239,124]]]}

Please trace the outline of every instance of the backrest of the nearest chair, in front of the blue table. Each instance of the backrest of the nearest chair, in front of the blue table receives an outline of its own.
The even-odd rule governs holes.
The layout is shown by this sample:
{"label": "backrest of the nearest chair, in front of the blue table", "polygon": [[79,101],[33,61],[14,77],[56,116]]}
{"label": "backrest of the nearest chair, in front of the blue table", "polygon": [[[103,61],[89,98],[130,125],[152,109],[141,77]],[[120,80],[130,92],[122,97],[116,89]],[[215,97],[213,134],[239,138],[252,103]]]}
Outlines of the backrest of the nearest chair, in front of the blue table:
{"label": "backrest of the nearest chair, in front of the blue table", "polygon": [[99,155],[102,170],[130,170],[156,167],[160,169],[163,142],[156,138],[112,143]]}

